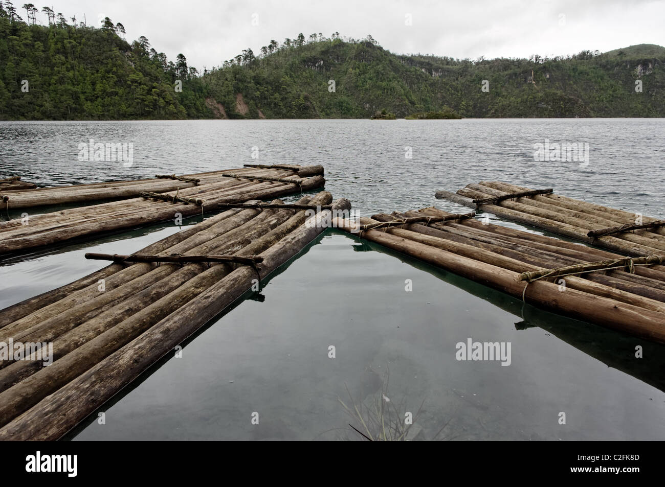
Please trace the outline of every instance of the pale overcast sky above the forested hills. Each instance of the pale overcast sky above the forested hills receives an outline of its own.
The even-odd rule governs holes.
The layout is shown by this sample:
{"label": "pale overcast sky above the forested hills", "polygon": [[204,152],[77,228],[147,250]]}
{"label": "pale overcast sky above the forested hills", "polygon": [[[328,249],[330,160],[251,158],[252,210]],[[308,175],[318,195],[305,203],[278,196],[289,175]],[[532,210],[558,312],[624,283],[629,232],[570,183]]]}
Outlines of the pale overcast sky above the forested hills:
{"label": "pale overcast sky above the forested hills", "polygon": [[[665,0],[50,0],[88,25],[110,17],[126,39],[144,35],[174,60],[219,66],[241,50],[303,33],[362,39],[385,49],[454,58],[575,54],[634,44],[665,45]],[[14,1],[21,11],[23,3]],[[41,4],[35,2],[41,9]],[[409,17],[410,16],[410,17]],[[25,11],[22,17],[25,18]],[[254,23],[258,25],[253,25]],[[407,25],[408,20],[412,25]],[[46,17],[41,14],[41,23]]]}

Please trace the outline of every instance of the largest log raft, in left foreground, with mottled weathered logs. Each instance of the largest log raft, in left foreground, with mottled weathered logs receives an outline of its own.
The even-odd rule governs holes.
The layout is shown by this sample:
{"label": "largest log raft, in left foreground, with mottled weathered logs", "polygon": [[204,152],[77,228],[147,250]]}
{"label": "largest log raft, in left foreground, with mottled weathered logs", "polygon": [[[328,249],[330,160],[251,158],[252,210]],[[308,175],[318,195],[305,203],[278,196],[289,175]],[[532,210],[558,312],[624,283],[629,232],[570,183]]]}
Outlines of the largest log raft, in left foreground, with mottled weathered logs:
{"label": "largest log raft, in left foreground, with mottled weathered logs", "polygon": [[228,209],[133,257],[90,255],[114,262],[0,310],[0,341],[53,343],[47,367],[37,352],[0,361],[0,440],[63,437],[350,209],[326,191],[297,202],[315,213],[281,204]]}

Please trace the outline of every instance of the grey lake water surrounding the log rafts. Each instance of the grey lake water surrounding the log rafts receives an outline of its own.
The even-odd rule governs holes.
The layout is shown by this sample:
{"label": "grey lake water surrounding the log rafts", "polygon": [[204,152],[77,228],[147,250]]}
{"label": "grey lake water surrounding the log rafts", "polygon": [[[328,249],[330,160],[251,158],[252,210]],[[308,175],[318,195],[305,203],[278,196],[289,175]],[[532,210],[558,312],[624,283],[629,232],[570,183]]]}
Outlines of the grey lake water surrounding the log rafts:
{"label": "grey lake water surrounding the log rafts", "polygon": [[[326,189],[359,215],[466,212],[434,193],[498,179],[665,218],[663,134],[665,119],[0,122],[0,177],[59,185],[321,163]],[[132,165],[79,161],[90,138],[132,144]],[[535,161],[534,144],[546,140],[589,144],[589,164]],[[131,253],[178,230],[153,225],[0,260],[0,308],[100,268],[85,252]],[[456,360],[468,338],[510,342],[511,365]],[[383,401],[392,421],[410,412],[422,439],[662,440],[663,391],[663,346],[331,230],[273,274],[261,298],[238,302],[182,358],[162,359],[104,405],[105,425],[94,413],[68,438],[362,439],[341,400]]]}

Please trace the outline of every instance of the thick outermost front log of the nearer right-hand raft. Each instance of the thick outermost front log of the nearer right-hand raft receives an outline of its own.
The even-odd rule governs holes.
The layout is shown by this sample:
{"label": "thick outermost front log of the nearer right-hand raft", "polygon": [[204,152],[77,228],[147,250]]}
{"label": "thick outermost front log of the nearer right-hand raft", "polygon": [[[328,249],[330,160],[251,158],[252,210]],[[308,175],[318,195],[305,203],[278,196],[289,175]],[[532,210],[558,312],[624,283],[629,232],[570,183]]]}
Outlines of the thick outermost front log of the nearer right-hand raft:
{"label": "thick outermost front log of the nearer right-hand raft", "polygon": [[[336,219],[334,225],[350,233],[357,231],[356,225],[348,220]],[[665,343],[665,322],[662,313],[630,304],[620,304],[616,300],[575,289],[559,292],[556,284],[543,280],[532,282],[525,287],[517,280],[519,275],[517,272],[396,237],[390,233],[369,230],[363,236],[512,296],[518,298],[525,296],[526,302],[543,306],[559,314]]]}

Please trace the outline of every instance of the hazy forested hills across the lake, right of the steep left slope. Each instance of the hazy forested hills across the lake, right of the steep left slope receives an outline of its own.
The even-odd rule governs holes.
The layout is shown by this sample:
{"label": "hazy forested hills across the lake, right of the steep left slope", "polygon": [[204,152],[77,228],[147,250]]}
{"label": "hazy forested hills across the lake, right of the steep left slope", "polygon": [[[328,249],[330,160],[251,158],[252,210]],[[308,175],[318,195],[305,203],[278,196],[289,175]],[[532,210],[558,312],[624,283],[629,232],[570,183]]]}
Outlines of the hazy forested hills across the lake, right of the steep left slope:
{"label": "hazy forested hills across the lake, right of the steep left slope", "polygon": [[203,84],[230,118],[368,118],[384,109],[404,117],[444,106],[464,117],[665,116],[665,48],[656,45],[474,62],[392,54],[371,37],[314,37],[261,58],[243,51]]}

